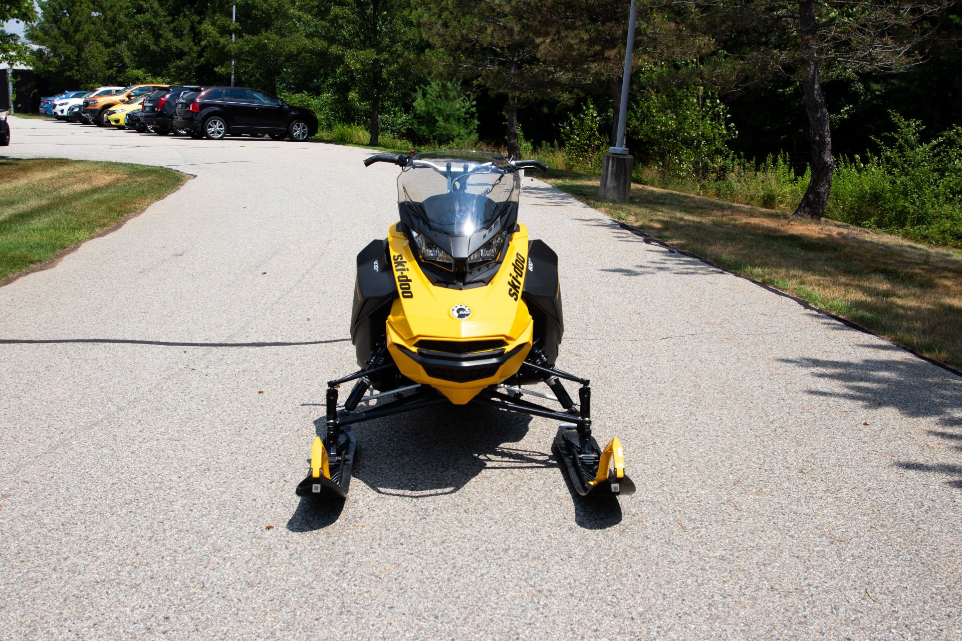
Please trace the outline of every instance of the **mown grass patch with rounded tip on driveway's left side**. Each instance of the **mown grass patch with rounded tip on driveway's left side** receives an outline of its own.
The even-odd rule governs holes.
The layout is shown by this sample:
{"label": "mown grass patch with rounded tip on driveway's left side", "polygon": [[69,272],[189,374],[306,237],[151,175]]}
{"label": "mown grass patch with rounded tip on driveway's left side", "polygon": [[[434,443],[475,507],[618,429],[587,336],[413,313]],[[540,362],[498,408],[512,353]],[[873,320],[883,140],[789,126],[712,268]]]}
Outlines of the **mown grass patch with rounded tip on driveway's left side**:
{"label": "mown grass patch with rounded tip on driveway's left side", "polygon": [[0,282],[164,198],[187,176],[90,160],[0,158]]}

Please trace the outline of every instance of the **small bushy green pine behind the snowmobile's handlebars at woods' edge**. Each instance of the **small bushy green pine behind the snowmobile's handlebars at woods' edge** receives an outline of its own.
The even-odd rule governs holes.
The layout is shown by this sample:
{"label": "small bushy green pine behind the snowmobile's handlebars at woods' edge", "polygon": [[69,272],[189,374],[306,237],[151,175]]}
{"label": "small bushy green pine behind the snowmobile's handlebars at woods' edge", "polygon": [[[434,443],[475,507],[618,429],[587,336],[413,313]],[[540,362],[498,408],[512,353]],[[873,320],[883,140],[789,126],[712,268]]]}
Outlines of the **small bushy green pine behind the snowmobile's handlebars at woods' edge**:
{"label": "small bushy green pine behind the snowmobile's handlebars at woods' edge", "polygon": [[454,83],[435,81],[418,88],[415,132],[422,140],[440,143],[477,137],[474,99]]}

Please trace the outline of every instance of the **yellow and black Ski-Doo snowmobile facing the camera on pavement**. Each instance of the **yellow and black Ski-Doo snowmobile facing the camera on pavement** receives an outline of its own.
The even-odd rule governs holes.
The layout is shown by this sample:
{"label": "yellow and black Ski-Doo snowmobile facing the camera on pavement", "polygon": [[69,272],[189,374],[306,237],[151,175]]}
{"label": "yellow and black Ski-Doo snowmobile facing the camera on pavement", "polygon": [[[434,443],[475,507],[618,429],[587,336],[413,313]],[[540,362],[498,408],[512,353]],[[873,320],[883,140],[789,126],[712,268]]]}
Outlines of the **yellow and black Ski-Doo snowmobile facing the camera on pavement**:
{"label": "yellow and black Ski-Doo snowmobile facing the camera on pavement", "polygon": [[[601,449],[592,436],[589,382],[554,366],[564,332],[558,257],[518,222],[519,170],[547,166],[473,151],[364,161],[374,162],[401,167],[400,221],[358,254],[351,341],[361,369],[327,383],[324,430],[297,494],[347,495],[352,425],[444,403],[557,420],[553,450],[578,494],[633,493],[620,441]],[[577,403],[562,381],[580,385]],[[548,389],[524,386],[537,383]]]}

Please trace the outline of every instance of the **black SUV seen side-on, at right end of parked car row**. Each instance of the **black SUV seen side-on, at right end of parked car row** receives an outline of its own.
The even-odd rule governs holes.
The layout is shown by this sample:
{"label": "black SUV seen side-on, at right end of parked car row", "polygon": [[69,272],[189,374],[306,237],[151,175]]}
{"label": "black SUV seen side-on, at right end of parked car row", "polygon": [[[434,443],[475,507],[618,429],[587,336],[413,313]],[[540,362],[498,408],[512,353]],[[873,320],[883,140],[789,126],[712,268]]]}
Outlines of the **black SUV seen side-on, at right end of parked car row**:
{"label": "black SUV seen side-on, at right end of parked car row", "polygon": [[228,135],[267,134],[274,140],[290,136],[303,142],[317,133],[314,111],[291,107],[265,91],[238,86],[212,86],[177,99],[173,126],[191,136],[219,140]]}

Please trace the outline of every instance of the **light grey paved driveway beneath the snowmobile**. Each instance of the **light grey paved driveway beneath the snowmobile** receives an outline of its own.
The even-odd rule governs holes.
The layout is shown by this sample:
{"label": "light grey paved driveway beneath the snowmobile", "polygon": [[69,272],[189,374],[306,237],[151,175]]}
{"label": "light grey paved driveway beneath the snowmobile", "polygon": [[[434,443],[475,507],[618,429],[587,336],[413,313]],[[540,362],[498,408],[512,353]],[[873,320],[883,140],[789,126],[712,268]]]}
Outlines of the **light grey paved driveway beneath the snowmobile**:
{"label": "light grey paved driveway beneath the snowmobile", "polygon": [[8,156],[196,178],[0,287],[0,637],[962,635],[962,379],[525,179],[559,365],[638,494],[574,500],[552,423],[448,407],[359,427],[347,504],[312,509],[396,169],[12,122]]}

